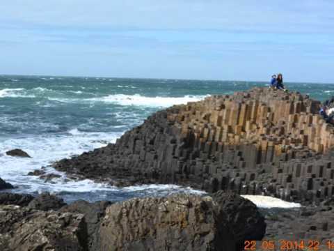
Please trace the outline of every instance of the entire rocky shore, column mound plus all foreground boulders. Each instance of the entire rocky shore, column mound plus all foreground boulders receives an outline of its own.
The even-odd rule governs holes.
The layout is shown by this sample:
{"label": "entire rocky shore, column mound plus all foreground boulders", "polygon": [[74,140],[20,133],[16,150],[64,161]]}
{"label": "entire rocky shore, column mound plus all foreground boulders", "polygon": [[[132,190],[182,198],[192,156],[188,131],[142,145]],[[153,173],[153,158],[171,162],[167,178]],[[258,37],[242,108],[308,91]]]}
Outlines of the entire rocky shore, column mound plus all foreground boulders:
{"label": "entire rocky shore, column mound plus all foreground boulders", "polygon": [[[334,127],[320,105],[300,93],[255,88],[152,114],[116,144],[54,167],[79,179],[173,183],[207,196],[67,205],[49,194],[1,192],[0,250],[234,251],[246,240],[334,241]],[[29,175],[54,178],[43,169]],[[10,188],[0,178],[0,189]],[[303,207],[264,211],[239,195]]]}

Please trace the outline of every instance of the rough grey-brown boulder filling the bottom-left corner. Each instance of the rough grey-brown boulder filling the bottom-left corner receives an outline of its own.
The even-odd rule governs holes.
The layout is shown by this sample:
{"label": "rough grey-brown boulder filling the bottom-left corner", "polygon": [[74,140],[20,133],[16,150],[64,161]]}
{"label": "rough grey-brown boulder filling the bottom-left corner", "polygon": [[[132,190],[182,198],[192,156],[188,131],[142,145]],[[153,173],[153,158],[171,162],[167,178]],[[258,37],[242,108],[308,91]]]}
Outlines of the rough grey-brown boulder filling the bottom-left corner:
{"label": "rough grey-brown boulder filling the bottom-left corner", "polygon": [[0,250],[86,251],[84,215],[0,206]]}

